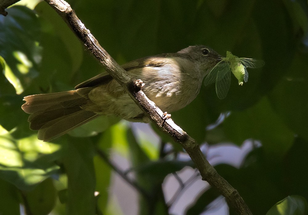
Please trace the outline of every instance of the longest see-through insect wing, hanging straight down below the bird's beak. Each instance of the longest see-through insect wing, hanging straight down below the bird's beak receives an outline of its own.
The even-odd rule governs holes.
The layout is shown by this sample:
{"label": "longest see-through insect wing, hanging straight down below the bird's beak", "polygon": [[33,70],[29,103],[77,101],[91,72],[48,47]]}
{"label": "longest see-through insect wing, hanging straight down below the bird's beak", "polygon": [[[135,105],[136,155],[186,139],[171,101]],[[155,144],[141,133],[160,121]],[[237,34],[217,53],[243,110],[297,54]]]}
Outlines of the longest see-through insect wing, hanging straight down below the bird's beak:
{"label": "longest see-through insect wing, hanging straight down below the bird's beak", "polygon": [[221,64],[221,68],[218,71],[216,78],[216,94],[220,99],[225,98],[228,94],[231,81],[230,74],[231,71],[229,63],[225,62]]}

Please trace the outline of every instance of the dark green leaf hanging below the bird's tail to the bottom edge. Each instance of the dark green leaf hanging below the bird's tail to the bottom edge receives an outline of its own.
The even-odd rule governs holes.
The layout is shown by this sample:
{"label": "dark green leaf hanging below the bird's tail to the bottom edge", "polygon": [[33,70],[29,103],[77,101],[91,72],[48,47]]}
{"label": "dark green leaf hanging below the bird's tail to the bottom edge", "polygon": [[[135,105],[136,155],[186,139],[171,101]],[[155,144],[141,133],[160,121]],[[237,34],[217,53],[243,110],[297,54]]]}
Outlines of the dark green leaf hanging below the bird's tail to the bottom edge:
{"label": "dark green leaf hanging below the bird's tail to the bottom edge", "polygon": [[69,138],[63,157],[68,179],[67,214],[95,214],[93,145],[87,138]]}

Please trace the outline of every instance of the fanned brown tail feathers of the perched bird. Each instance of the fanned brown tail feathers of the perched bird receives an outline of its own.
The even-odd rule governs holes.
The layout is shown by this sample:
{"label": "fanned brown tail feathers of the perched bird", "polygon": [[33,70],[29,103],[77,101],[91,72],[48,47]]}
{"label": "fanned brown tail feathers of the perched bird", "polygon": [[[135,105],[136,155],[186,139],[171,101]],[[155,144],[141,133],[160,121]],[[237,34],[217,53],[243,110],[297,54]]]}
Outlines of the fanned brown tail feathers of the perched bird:
{"label": "fanned brown tail feathers of the perched bird", "polygon": [[99,115],[82,109],[87,103],[87,93],[91,89],[82,88],[61,93],[26,96],[22,109],[31,115],[30,129],[39,130],[38,139],[50,141],[68,131],[91,121]]}

